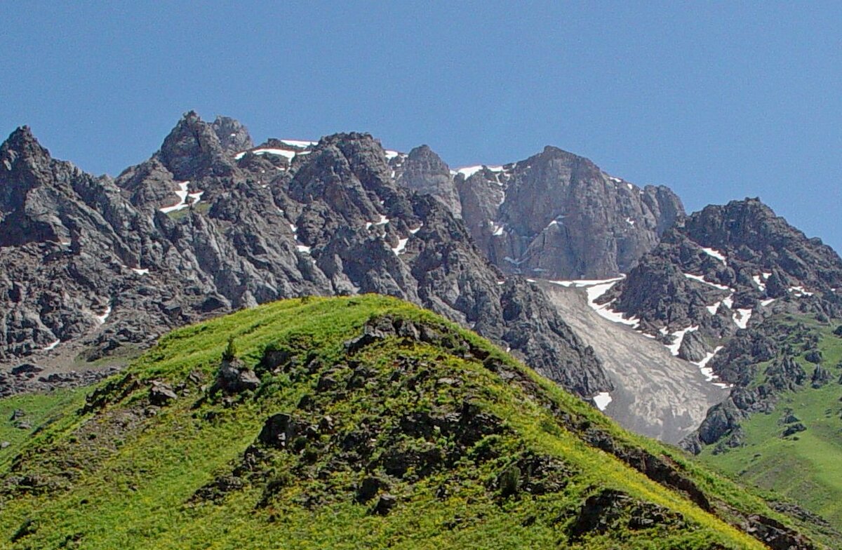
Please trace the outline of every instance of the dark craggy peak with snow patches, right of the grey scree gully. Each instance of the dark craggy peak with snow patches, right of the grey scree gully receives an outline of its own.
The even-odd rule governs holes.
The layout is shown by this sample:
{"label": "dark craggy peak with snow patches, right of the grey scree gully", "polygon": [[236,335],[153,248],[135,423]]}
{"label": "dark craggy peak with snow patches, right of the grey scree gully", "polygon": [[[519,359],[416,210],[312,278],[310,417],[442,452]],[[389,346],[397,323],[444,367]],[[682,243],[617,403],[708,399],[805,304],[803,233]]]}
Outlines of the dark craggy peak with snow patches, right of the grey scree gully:
{"label": "dark craggy peak with snow patches, right of the grey scree gully", "polygon": [[766,312],[833,317],[842,312],[837,287],[842,259],[832,248],[745,199],[679,219],[600,303],[640,318],[649,334],[696,325],[698,336],[722,339]]}

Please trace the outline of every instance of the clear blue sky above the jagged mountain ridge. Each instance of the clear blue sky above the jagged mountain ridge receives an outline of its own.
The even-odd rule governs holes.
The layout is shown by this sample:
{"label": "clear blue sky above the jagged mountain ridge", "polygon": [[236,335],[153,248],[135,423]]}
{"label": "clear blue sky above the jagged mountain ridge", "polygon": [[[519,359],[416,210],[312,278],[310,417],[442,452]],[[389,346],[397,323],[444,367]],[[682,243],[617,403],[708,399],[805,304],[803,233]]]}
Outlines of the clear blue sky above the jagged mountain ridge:
{"label": "clear blue sky above the jagged mountain ridge", "polygon": [[0,3],[0,132],[117,174],[186,110],[451,166],[547,144],[842,250],[842,3]]}

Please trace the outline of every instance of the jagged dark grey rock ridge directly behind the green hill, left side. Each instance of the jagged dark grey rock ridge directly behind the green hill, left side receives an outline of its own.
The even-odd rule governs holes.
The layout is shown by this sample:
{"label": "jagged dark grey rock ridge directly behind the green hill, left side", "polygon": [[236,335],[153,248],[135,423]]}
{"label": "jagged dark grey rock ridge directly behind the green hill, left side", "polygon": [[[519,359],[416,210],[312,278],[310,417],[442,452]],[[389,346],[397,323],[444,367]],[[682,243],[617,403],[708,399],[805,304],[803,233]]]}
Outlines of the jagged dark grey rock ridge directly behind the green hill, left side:
{"label": "jagged dark grey rock ridge directly behind the green hill, left side", "polygon": [[236,161],[245,142],[220,132],[238,127],[188,113],[116,180],[50,158],[28,130],[10,136],[0,149],[0,361],[62,350],[94,360],[239,307],[379,292],[474,328],[580,395],[610,389],[541,291],[504,281],[447,207],[398,185],[371,136]]}

